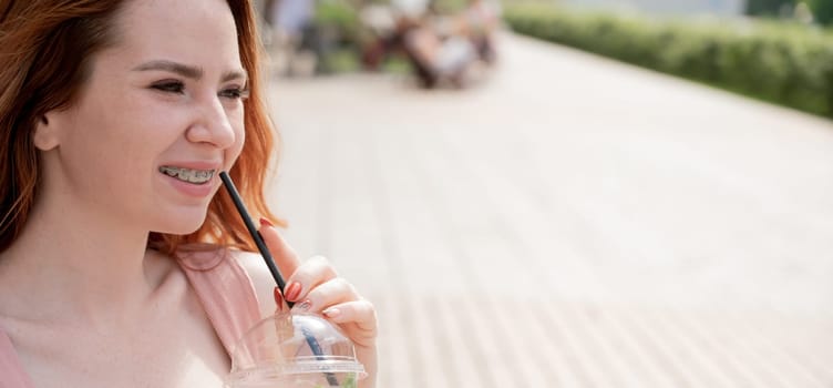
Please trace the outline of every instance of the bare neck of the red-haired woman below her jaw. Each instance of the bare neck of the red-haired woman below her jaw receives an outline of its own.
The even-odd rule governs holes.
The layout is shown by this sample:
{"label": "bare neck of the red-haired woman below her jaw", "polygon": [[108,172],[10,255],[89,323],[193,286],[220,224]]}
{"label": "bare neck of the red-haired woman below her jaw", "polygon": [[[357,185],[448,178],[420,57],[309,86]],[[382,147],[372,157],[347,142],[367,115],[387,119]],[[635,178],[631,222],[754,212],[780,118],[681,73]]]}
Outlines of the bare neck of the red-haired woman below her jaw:
{"label": "bare neck of the red-haired woman below her jaw", "polygon": [[39,204],[0,254],[0,310],[42,323],[130,319],[153,287],[147,231],[78,204]]}

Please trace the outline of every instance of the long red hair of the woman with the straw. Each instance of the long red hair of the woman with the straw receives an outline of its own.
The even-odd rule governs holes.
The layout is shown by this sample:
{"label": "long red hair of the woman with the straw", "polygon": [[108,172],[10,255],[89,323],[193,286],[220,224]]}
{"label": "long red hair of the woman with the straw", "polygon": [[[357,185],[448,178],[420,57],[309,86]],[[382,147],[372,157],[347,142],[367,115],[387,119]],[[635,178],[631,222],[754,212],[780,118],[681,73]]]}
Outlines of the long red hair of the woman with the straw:
{"label": "long red hair of the woman with the straw", "polygon": [[[264,103],[260,43],[250,0],[228,0],[240,62],[249,74],[246,142],[230,169],[255,216],[275,218],[264,198],[278,137]],[[69,108],[90,75],[94,54],[117,41],[114,19],[124,0],[0,0],[0,252],[21,234],[41,175],[32,135],[47,112]],[[148,246],[166,254],[182,244],[216,243],[255,251],[228,194],[220,190],[203,225],[188,235],[151,233]]]}

